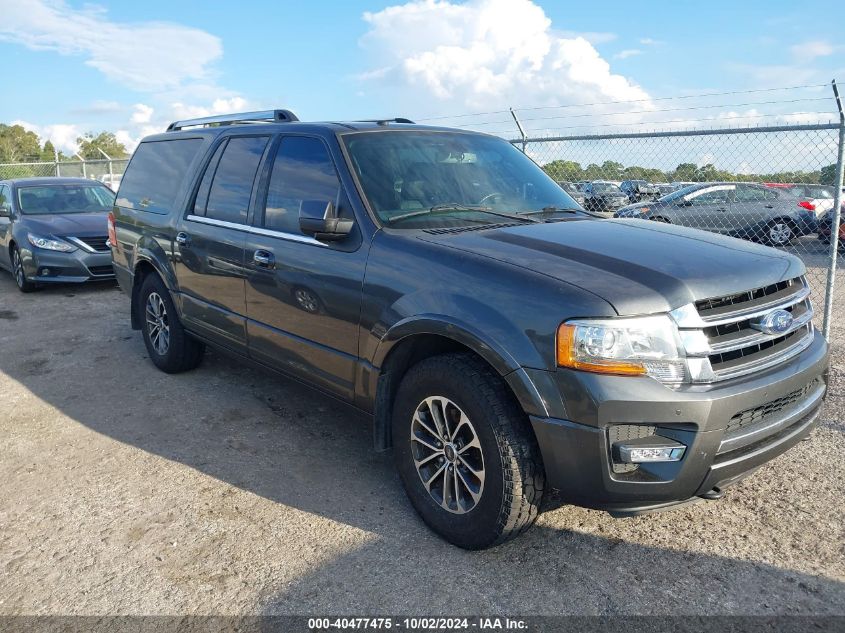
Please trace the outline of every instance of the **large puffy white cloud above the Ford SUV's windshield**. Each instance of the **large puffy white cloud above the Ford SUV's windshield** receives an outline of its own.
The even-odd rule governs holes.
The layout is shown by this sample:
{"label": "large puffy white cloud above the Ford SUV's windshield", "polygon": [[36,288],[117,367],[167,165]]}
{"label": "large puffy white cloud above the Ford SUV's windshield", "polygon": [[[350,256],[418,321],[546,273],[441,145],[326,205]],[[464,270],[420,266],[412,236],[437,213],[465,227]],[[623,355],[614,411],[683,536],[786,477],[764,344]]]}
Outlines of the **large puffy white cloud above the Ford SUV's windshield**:
{"label": "large puffy white cloud above the Ford SUV's windshield", "polygon": [[418,0],[364,20],[361,45],[380,64],[358,79],[420,114],[648,99],[585,37],[554,30],[530,0]]}

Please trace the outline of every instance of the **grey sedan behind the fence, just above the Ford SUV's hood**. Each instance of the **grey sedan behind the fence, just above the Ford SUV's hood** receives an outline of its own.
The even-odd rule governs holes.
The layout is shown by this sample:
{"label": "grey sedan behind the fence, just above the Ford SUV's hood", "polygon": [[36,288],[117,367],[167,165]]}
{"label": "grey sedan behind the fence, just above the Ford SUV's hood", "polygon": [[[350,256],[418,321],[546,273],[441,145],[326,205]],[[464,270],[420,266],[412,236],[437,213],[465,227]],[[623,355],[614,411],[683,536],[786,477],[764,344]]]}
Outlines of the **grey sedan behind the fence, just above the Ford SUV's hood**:
{"label": "grey sedan behind the fence, just above the Ford SUV's hood", "polygon": [[771,246],[786,246],[815,233],[815,211],[781,197],[774,189],[752,183],[701,183],[679,189],[654,202],[620,209],[616,217],[635,217],[723,233]]}

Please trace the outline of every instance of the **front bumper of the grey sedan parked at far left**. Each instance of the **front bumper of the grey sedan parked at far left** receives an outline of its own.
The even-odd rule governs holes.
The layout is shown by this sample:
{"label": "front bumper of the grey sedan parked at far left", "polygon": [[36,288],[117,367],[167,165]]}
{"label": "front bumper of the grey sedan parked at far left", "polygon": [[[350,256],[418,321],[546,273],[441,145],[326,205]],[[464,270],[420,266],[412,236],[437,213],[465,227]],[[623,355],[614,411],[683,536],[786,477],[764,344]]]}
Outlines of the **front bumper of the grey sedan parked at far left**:
{"label": "front bumper of the grey sedan parked at far left", "polygon": [[24,272],[35,283],[81,283],[114,279],[110,252],[90,253],[77,249],[70,253],[40,248],[21,249]]}

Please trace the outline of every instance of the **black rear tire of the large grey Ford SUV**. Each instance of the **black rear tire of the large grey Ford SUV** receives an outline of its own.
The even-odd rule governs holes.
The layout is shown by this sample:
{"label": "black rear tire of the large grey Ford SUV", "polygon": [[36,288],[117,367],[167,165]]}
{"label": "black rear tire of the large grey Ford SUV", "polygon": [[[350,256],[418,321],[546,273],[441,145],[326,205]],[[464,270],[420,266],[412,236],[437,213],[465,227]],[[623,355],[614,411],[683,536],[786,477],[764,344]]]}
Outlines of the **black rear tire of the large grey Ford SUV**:
{"label": "black rear tire of the large grey Ford SUV", "polygon": [[[160,304],[159,304],[160,301]],[[163,309],[161,317],[154,314],[150,306],[156,305]],[[170,298],[167,286],[158,275],[147,275],[141,285],[139,294],[138,315],[141,331],[144,333],[144,343],[153,364],[168,374],[178,374],[194,369],[202,362],[205,345],[191,338],[182,327],[176,306]],[[154,321],[158,330],[154,327]],[[166,327],[167,341],[162,344],[164,328]],[[156,331],[159,332],[156,336]]]}

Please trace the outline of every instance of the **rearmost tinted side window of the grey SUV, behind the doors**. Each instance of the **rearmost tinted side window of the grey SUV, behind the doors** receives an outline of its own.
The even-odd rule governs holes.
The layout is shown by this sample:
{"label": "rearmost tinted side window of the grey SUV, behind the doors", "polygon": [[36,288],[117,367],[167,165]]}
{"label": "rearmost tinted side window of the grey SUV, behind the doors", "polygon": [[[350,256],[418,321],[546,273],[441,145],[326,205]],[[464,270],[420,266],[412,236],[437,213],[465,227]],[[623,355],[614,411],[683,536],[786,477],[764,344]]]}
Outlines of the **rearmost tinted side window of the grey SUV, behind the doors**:
{"label": "rearmost tinted side window of the grey SUV, behind the doors", "polygon": [[202,144],[199,138],[141,143],[120,182],[117,204],[138,211],[169,213]]}

